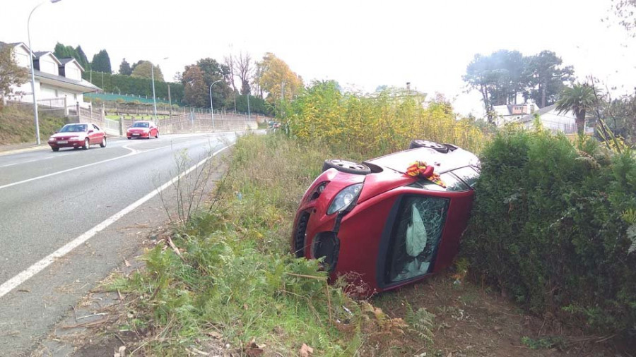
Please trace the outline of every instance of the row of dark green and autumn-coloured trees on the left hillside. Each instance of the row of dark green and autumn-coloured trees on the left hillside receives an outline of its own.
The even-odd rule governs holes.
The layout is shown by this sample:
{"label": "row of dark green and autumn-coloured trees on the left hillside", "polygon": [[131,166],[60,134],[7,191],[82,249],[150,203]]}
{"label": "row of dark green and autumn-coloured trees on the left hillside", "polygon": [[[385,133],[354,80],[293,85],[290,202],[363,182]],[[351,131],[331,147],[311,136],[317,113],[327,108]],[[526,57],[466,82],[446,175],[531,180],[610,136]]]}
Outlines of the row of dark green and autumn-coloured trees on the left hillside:
{"label": "row of dark green and autumn-coloured trees on the left hillside", "polygon": [[[81,46],[73,48],[58,43],[55,55],[77,59],[86,70],[84,78],[102,87],[102,90],[141,96],[149,92],[152,94],[152,83],[148,80],[154,75],[155,92],[158,96],[167,97],[167,93],[164,93],[166,90],[158,90],[156,85],[156,82],[165,82],[161,68],[153,66],[151,61],[139,60],[131,64],[124,58],[119,64],[118,73],[114,74],[105,49],[95,54],[93,61],[89,62]],[[105,76],[102,79],[102,75],[95,75],[94,72],[105,73]],[[216,109],[251,110],[266,114],[275,113],[281,103],[289,102],[303,87],[302,78],[274,54],[267,53],[260,61],[254,61],[249,53],[244,52],[228,54],[223,61],[209,57],[199,59],[177,73],[174,83],[167,84],[170,85],[172,97],[181,105],[212,105]]]}

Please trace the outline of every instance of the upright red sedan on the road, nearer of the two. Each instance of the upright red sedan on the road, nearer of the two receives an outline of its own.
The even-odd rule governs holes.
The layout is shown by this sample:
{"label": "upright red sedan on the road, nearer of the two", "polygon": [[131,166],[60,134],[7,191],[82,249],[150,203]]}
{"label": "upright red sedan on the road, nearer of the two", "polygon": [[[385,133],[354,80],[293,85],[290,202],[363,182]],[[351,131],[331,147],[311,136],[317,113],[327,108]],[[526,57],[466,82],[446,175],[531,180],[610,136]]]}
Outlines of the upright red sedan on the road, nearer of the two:
{"label": "upright red sedan on the road, nearer of the two", "polygon": [[47,143],[53,151],[59,151],[61,147],[88,150],[90,145],[97,144],[106,147],[106,133],[93,123],[71,123],[51,135]]}

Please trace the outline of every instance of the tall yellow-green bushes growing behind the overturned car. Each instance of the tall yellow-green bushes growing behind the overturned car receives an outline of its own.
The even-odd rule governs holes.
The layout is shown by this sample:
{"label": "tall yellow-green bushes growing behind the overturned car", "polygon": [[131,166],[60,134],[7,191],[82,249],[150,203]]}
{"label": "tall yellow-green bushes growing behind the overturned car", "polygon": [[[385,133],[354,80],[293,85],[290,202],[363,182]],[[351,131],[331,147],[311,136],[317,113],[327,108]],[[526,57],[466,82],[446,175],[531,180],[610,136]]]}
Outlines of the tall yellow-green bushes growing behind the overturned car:
{"label": "tall yellow-green bushes growing behind the overturned car", "polygon": [[291,134],[323,140],[339,152],[372,157],[404,150],[413,139],[452,143],[479,152],[488,137],[473,121],[457,120],[450,104],[409,91],[377,96],[342,93],[336,83],[314,83],[288,111]]}

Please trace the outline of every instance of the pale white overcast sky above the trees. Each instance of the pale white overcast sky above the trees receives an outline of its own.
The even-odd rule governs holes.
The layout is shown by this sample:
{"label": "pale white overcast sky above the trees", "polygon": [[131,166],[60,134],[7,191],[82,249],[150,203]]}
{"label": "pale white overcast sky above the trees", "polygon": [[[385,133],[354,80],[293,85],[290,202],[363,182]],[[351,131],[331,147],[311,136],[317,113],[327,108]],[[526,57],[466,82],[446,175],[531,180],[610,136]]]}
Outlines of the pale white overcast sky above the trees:
{"label": "pale white overcast sky above the trees", "polygon": [[[0,41],[25,42],[27,19],[42,0],[0,0]],[[461,75],[476,53],[549,49],[583,79],[594,74],[619,93],[636,85],[636,40],[601,23],[611,0],[465,1],[151,1],[61,0],[31,18],[34,50],[57,42],[88,56],[106,49],[112,68],[158,63],[167,79],[230,52],[260,59],[273,52],[302,76],[337,80],[371,92],[412,87],[454,99],[481,116],[479,95],[464,94]],[[164,59],[168,57],[168,59]]]}

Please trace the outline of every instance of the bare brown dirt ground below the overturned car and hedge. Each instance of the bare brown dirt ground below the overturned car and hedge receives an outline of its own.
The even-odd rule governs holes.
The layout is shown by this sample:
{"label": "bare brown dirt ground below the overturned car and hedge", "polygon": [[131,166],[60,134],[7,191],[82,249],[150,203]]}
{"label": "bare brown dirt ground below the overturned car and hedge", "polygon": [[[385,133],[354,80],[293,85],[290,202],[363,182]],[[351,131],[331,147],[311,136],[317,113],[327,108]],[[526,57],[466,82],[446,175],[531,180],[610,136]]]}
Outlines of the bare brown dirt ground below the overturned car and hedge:
{"label": "bare brown dirt ground below the overturned car and hedge", "polygon": [[433,343],[406,329],[402,339],[367,346],[362,356],[636,356],[623,342],[528,315],[499,294],[451,274],[382,294],[372,303],[394,318],[405,318],[407,305],[435,314]]}

